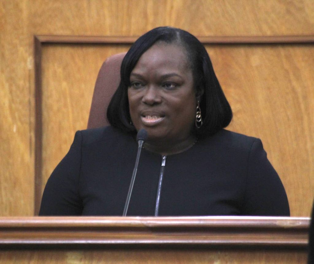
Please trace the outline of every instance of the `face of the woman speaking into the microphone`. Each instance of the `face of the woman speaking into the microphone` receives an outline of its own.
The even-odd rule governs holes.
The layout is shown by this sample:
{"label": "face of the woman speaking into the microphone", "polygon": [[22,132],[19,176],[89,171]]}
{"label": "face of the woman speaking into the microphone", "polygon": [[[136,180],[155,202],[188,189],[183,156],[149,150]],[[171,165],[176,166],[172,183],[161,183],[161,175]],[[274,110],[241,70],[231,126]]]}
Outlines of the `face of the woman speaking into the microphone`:
{"label": "face of the woman speaking into the microphone", "polygon": [[158,42],[138,60],[128,88],[130,115],[148,141],[184,141],[196,114],[193,75],[182,46]]}

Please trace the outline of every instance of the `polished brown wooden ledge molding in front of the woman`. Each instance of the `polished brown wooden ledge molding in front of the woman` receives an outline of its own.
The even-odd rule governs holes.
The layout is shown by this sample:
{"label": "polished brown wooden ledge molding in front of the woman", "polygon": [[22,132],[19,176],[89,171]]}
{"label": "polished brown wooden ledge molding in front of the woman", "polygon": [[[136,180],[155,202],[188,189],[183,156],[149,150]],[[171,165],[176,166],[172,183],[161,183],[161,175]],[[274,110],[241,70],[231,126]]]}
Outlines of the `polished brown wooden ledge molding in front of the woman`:
{"label": "polished brown wooden ledge molding in front of the woman", "polygon": [[310,218],[2,217],[0,248],[78,245],[299,248]]}

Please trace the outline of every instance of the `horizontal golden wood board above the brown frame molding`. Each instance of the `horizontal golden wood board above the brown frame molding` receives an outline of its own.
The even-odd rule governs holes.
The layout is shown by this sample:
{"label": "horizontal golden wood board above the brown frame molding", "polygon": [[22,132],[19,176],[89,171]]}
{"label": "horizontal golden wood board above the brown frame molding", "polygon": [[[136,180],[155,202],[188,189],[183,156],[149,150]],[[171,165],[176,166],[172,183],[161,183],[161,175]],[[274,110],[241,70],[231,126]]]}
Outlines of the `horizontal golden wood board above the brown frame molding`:
{"label": "horizontal golden wood board above the brown frame molding", "polygon": [[199,36],[312,35],[313,10],[311,0],[105,0],[75,5],[36,0],[32,24],[49,35],[132,36],[161,25]]}

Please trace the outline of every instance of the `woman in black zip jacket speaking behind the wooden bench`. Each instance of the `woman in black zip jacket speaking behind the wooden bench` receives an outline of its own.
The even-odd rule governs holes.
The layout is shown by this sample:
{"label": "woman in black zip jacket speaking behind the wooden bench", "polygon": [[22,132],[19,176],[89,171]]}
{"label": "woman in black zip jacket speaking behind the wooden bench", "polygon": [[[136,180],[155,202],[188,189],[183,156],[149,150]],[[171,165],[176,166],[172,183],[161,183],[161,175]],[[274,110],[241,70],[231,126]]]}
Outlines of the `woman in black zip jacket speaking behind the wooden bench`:
{"label": "woman in black zip jacket speaking behind the wooden bench", "polygon": [[76,133],[47,182],[40,215],[122,215],[141,128],[148,138],[127,215],[290,214],[261,141],[223,129],[230,105],[204,46],[188,32],[155,28],[133,44],[107,118],[109,127]]}

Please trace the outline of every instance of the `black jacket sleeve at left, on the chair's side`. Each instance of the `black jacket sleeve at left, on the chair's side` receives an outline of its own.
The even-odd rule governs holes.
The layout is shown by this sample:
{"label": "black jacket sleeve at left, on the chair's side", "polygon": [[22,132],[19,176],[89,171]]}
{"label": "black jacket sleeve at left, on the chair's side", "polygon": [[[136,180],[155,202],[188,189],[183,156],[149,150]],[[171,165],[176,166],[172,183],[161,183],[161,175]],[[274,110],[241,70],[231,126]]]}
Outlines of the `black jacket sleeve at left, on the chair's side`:
{"label": "black jacket sleeve at left, on the chair's side", "polygon": [[81,215],[79,176],[82,152],[82,133],[75,133],[66,156],[49,177],[41,200],[40,216]]}

